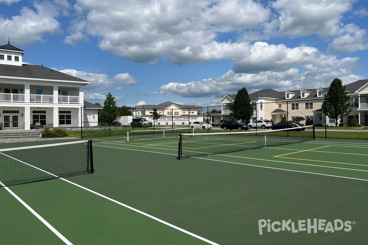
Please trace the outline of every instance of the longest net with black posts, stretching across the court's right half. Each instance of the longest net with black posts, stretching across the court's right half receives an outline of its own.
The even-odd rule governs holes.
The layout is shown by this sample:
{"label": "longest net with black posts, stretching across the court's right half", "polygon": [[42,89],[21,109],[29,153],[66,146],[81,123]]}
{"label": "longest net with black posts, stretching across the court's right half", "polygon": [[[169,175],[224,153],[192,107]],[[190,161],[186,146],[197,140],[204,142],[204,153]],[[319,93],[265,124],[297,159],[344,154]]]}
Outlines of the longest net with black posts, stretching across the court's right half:
{"label": "longest net with black posts, stretching across the court's right half", "polygon": [[178,159],[292,144],[315,139],[313,125],[303,126],[301,130],[303,131],[279,129],[230,133],[180,134]]}

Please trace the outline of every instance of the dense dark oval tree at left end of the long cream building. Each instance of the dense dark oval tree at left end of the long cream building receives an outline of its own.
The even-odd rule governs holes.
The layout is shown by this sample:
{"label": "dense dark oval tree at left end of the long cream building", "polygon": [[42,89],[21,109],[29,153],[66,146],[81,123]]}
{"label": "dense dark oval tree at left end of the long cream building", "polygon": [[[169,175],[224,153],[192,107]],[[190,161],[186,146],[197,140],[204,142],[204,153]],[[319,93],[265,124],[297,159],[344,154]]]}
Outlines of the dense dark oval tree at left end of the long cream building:
{"label": "dense dark oval tree at left end of the long cream building", "polygon": [[233,117],[238,120],[245,121],[245,119],[250,119],[253,116],[253,105],[245,87],[239,89],[236,93],[231,109],[233,111]]}

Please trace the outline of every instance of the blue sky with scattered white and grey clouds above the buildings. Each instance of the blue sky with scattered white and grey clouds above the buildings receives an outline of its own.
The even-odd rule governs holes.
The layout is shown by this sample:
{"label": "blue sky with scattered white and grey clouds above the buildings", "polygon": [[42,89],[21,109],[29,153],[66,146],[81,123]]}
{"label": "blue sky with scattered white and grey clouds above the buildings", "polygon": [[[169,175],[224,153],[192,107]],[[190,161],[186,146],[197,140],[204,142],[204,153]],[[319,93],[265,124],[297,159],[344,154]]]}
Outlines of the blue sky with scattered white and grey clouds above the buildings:
{"label": "blue sky with scattered white and grey clouds above the buildings", "polygon": [[363,0],[0,0],[0,45],[119,106],[367,79],[367,23]]}

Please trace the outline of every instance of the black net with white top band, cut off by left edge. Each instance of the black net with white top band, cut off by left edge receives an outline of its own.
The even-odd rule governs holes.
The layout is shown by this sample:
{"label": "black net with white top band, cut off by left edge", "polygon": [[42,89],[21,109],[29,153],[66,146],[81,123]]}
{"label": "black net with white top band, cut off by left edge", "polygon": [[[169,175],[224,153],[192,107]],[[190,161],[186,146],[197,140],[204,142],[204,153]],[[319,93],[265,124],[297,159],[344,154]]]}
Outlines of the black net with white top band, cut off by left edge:
{"label": "black net with white top band, cut off by left edge", "polygon": [[92,140],[0,149],[0,186],[93,171]]}

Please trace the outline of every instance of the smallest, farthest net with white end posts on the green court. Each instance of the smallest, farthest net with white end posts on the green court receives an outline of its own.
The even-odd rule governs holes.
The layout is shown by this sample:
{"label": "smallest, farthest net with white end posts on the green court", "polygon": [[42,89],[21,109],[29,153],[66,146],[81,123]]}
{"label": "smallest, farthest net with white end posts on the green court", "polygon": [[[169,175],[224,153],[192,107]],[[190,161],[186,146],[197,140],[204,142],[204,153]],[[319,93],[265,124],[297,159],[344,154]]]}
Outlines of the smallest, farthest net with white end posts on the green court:
{"label": "smallest, farthest net with white end posts on the green court", "polygon": [[177,138],[180,133],[194,132],[191,128],[178,129],[156,129],[156,130],[130,130],[127,131],[125,143],[142,140],[165,140],[167,138]]}

